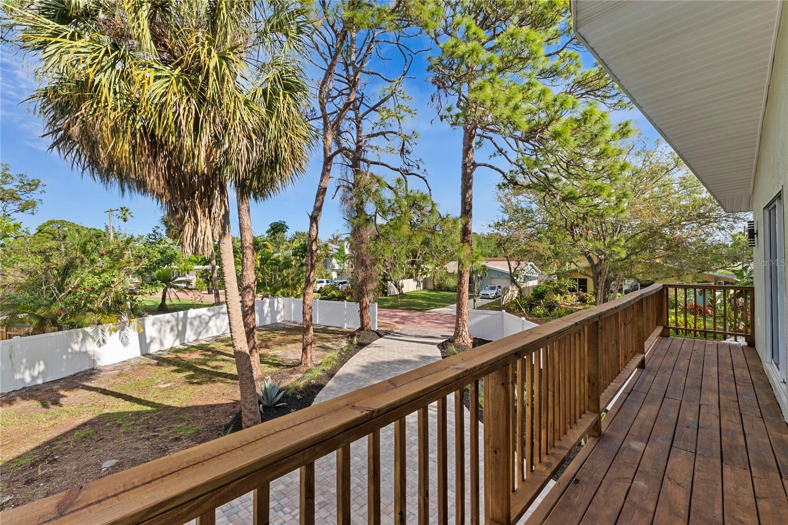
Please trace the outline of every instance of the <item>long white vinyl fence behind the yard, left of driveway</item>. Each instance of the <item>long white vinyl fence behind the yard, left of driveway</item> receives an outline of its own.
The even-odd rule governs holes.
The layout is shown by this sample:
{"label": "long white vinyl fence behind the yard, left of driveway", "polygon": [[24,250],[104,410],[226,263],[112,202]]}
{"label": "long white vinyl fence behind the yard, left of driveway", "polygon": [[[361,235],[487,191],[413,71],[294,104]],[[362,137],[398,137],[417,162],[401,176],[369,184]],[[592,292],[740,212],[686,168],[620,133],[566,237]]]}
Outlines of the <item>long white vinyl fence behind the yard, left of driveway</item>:
{"label": "long white vinyl fence behind the yard, left of driveway", "polygon": [[[301,322],[301,300],[275,297],[255,301],[258,326],[275,322]],[[359,306],[343,301],[315,300],[312,320],[324,326],[359,327]],[[370,309],[377,330],[377,303]],[[0,341],[0,392],[65,378],[91,368],[120,363],[205,337],[229,332],[224,306],[195,308],[139,319],[142,331],[113,333],[105,344],[96,343],[95,328],[14,337]]]}

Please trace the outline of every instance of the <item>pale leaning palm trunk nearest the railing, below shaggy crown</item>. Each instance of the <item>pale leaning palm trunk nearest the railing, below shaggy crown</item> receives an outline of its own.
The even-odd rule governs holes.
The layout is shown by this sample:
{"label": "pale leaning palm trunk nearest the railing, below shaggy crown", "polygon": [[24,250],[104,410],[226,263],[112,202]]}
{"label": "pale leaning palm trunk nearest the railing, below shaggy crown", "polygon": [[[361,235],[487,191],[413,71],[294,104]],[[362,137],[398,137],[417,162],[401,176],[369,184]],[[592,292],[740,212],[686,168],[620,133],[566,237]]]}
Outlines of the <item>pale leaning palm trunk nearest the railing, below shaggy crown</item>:
{"label": "pale leaning palm trunk nearest the railing, below shaggy crown", "polygon": [[230,325],[230,338],[232,340],[232,354],[236,359],[238,372],[238,386],[241,394],[241,422],[243,427],[260,423],[260,410],[257,404],[257,389],[255,388],[255,374],[252,372],[249,349],[247,348],[246,332],[243,330],[243,317],[241,315],[241,298],[238,293],[238,279],[236,277],[236,262],[232,255],[232,233],[230,232],[230,210],[225,192],[221,199],[225,206],[221,215],[221,229],[219,233],[219,258],[225,274],[225,301],[227,303],[227,317]]}

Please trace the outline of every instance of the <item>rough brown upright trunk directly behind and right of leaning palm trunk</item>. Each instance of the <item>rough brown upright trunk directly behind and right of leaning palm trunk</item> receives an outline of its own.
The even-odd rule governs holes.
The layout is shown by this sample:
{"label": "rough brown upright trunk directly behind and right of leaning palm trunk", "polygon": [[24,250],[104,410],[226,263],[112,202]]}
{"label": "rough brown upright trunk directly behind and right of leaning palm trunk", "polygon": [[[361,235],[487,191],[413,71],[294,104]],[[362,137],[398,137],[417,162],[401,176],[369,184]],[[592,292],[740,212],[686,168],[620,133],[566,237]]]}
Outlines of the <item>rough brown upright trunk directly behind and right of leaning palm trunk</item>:
{"label": "rough brown upright trunk directly behind and right of leaning palm trunk", "polygon": [[238,201],[238,226],[241,237],[241,314],[243,330],[246,331],[251,369],[255,381],[262,379],[260,370],[260,351],[257,345],[257,322],[255,319],[255,295],[257,279],[255,277],[255,238],[251,232],[251,210],[249,198],[236,190]]}

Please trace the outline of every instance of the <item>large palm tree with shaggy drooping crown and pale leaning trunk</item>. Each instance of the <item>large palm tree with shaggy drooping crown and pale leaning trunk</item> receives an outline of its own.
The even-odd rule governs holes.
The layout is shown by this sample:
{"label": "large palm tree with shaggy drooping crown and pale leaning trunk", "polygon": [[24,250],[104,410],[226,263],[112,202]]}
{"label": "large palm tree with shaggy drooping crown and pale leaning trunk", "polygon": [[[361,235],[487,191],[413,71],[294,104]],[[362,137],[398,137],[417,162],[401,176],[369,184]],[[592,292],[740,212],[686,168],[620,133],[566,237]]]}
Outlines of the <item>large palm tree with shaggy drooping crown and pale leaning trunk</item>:
{"label": "large palm tree with shaggy drooping crown and pale leaning trunk", "polygon": [[288,111],[300,109],[305,90],[298,67],[261,59],[261,44],[277,39],[262,23],[270,14],[241,0],[43,0],[6,9],[15,43],[38,60],[31,100],[50,148],[121,193],[158,199],[182,225],[187,253],[218,240],[243,425],[258,423],[228,185],[272,195],[298,173],[282,148],[310,139],[306,125],[304,136],[282,131],[298,120]]}

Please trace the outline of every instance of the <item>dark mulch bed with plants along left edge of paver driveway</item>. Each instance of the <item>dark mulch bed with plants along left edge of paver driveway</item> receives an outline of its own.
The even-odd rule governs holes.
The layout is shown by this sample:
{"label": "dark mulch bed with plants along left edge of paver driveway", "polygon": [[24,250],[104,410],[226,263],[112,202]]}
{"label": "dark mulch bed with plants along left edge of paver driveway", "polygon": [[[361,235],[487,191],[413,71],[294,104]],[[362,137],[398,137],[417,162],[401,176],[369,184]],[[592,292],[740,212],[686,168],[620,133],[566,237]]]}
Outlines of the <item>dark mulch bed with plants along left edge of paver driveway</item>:
{"label": "dark mulch bed with plants along left edge of paver driveway", "polygon": [[[285,404],[281,407],[266,409],[266,411],[262,414],[262,422],[277,419],[282,415],[287,415],[291,412],[301,410],[302,408],[312,406],[312,403],[314,403],[314,398],[318,397],[318,393],[320,393],[325,385],[329,384],[331,378],[333,378],[336,372],[338,372],[340,368],[344,366],[344,363],[348,363],[351,357],[359,353],[364,347],[366,347],[366,345],[377,341],[381,337],[384,337],[391,332],[392,330],[356,330],[355,332],[349,334],[348,341],[352,341],[355,337],[356,344],[351,348],[347,348],[340,352],[339,358],[336,359],[336,365],[334,365],[334,367],[330,368],[329,370],[326,370],[324,374],[321,374],[313,382],[310,382],[310,384],[301,389],[299,393],[285,393],[281,399],[281,402]],[[232,420],[230,420],[230,422],[225,425],[223,433],[230,434],[232,432],[236,432],[237,430],[241,430],[240,411],[238,411],[236,415],[233,416]]]}

